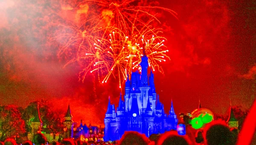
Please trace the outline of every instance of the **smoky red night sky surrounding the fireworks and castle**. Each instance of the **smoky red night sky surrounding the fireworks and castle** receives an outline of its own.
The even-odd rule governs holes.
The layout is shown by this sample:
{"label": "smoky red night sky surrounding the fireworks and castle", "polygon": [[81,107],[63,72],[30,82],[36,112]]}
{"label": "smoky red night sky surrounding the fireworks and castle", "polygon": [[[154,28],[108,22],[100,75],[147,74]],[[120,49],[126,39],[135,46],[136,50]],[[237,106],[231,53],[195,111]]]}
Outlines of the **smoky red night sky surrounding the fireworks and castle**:
{"label": "smoky red night sky surrounding the fireworks and castle", "polygon": [[[61,1],[59,3],[67,3]],[[70,102],[75,121],[102,124],[108,105],[119,100],[118,80],[101,85],[88,75],[79,82],[81,67],[57,57],[47,47],[54,21],[50,9],[69,15],[59,3],[44,0],[0,0],[0,105],[26,107],[46,99],[52,108],[66,111]],[[71,3],[71,2],[70,2]],[[155,72],[160,101],[175,113],[203,108],[227,115],[232,105],[250,108],[256,94],[256,2],[253,0],[160,0],[177,12],[178,20],[163,13],[170,61],[164,74]],[[49,11],[48,11],[49,10]],[[71,15],[72,16],[72,15]],[[75,17],[75,16],[74,16]],[[70,18],[72,19],[72,18]]]}

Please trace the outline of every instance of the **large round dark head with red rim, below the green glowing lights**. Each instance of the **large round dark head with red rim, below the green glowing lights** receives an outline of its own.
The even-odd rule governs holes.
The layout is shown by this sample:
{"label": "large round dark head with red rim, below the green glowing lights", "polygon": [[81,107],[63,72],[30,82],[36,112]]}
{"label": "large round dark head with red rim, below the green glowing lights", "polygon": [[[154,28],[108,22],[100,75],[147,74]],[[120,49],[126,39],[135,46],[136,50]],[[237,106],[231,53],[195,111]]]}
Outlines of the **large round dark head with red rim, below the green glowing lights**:
{"label": "large round dark head with red rim, below the green glowing lights", "polygon": [[232,133],[226,122],[213,121],[204,128],[204,140],[207,145],[235,145]]}

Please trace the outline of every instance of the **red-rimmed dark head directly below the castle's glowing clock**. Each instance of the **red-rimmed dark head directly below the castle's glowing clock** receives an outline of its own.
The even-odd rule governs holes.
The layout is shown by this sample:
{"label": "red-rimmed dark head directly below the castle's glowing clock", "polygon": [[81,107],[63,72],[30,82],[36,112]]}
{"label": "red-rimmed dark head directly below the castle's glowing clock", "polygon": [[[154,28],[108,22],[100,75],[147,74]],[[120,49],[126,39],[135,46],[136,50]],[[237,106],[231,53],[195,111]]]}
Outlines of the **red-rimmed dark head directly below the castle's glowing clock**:
{"label": "red-rimmed dark head directly below the castle's glowing clock", "polygon": [[126,131],[119,141],[119,145],[147,145],[148,139],[145,134],[136,131]]}

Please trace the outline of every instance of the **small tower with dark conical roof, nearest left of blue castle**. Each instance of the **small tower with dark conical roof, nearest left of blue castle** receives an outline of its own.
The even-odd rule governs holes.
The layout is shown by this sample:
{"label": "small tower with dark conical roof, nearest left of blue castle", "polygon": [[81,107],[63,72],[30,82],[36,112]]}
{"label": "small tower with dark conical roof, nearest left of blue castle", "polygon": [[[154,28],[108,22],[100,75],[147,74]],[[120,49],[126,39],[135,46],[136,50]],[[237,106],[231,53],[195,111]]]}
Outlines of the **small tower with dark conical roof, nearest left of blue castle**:
{"label": "small tower with dark conical roof, nearest left of blue castle", "polygon": [[63,138],[72,138],[73,137],[73,116],[70,111],[70,105],[68,104],[67,113],[64,117],[63,125],[64,125],[64,132]]}

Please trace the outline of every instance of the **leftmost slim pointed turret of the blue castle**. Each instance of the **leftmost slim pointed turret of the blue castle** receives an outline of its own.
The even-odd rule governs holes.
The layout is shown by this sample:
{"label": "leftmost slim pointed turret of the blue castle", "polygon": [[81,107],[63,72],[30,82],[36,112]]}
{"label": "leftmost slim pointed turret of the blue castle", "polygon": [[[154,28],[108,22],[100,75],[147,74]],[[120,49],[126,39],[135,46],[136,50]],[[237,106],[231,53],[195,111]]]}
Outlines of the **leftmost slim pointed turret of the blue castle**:
{"label": "leftmost slim pointed turret of the blue castle", "polygon": [[113,106],[110,104],[110,97],[108,97],[108,110],[105,114],[105,135],[104,140],[111,140],[111,121],[113,119]]}

